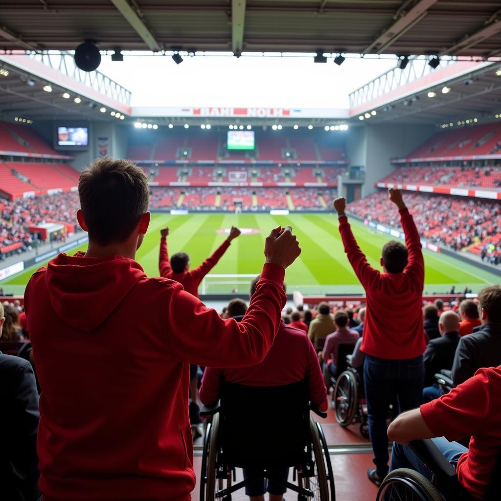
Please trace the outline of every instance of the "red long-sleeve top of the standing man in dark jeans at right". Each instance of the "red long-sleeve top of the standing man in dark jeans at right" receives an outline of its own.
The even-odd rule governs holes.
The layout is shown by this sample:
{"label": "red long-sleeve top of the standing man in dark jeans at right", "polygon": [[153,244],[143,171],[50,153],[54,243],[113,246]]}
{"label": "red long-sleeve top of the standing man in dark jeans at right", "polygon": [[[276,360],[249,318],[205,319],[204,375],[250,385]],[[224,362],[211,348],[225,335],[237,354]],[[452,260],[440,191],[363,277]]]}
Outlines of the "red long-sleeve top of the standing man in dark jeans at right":
{"label": "red long-sleeve top of the standing man in dark jeans at right", "polygon": [[348,218],[339,218],[345,253],[367,296],[361,351],[390,360],[415,358],[426,349],[422,313],[424,261],[421,240],[407,208],[399,212],[409,252],[408,264],[402,273],[374,270],[360,250]]}

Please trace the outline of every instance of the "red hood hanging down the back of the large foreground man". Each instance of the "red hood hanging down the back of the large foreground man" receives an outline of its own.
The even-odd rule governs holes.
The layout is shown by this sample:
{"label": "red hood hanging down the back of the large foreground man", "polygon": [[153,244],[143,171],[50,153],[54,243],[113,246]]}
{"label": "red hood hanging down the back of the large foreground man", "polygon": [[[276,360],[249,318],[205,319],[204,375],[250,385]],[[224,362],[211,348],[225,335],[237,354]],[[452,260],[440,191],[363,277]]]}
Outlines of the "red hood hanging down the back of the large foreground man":
{"label": "red hood hanging down the back of the large foreground man", "polygon": [[100,326],[134,285],[146,278],[141,266],[122,256],[85,258],[60,254],[47,266],[51,305],[68,325],[82,331]]}

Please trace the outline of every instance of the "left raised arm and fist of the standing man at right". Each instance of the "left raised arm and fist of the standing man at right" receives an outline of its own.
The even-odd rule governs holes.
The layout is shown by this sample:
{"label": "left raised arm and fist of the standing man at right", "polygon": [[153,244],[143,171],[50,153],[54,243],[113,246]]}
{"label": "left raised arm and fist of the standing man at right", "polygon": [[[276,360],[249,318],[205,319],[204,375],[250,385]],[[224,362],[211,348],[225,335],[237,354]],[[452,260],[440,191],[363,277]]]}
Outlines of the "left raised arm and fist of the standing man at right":
{"label": "left raised arm and fist of the standing man at right", "polygon": [[346,200],[343,197],[336,198],[336,200],[334,200],[334,208],[338,213],[339,232],[341,233],[348,261],[362,286],[364,288],[370,287],[371,284],[379,278],[380,273],[369,265],[365,254],[360,250],[357,240],[355,240],[355,236],[353,236],[348,217],[346,217],[345,214]]}

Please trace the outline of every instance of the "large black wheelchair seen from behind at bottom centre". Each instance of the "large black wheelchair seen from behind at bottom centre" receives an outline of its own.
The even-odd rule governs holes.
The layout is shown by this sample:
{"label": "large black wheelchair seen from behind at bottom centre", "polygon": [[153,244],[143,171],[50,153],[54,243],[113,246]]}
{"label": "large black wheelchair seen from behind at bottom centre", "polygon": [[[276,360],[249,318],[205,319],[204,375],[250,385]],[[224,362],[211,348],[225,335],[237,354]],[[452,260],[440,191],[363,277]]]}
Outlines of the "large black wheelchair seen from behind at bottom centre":
{"label": "large black wheelchair seen from behind at bottom centre", "polygon": [[[203,441],[200,501],[231,501],[236,490],[274,478],[284,467],[293,468],[295,483],[274,480],[295,492],[298,501],[335,501],[327,442],[310,410],[321,417],[327,413],[311,406],[308,394],[306,379],[271,387],[223,381],[220,401],[200,412],[212,416]],[[236,482],[235,468],[256,473]]]}

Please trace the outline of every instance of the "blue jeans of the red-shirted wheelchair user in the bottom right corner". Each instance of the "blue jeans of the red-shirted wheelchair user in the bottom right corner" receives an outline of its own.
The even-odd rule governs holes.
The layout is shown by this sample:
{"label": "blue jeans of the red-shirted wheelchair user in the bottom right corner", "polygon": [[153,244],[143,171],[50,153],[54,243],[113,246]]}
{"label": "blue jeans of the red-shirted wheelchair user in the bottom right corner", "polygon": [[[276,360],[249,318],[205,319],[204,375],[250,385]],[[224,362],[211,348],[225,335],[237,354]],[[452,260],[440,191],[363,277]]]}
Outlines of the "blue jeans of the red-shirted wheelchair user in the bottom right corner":
{"label": "blue jeans of the red-shirted wheelchair user in the bottom right corner", "polygon": [[[457,461],[459,461],[461,455],[468,452],[468,449],[460,443],[449,442],[445,437],[432,438],[431,440],[454,468],[457,466]],[[419,473],[424,475],[428,480],[431,480],[432,473],[428,467],[424,465],[421,459],[419,459],[407,445],[400,445],[399,443],[393,442],[390,471],[397,468],[411,468],[419,471]],[[440,490],[439,484],[437,488]],[[446,492],[442,492],[442,494],[446,496]]]}

